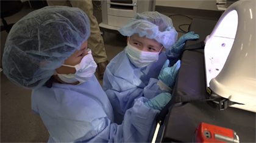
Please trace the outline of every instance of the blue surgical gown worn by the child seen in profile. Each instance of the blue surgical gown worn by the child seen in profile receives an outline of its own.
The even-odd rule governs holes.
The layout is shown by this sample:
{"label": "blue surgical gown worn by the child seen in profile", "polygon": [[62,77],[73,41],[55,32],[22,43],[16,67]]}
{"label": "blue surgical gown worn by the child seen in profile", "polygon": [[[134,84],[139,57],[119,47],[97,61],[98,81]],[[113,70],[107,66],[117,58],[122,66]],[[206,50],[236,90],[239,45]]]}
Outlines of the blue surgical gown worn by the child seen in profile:
{"label": "blue surgical gown worn by the child seen in profile", "polygon": [[149,142],[158,110],[135,101],[121,125],[95,76],[80,85],[54,84],[32,91],[32,111],[41,116],[49,142]]}

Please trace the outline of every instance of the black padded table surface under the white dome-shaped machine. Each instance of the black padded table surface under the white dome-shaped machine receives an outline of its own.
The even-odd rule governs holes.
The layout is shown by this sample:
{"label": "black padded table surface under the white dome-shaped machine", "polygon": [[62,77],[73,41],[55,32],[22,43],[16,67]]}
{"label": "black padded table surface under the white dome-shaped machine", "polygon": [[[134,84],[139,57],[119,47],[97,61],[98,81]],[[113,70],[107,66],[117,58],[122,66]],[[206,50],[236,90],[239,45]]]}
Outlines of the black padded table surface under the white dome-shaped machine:
{"label": "black padded table surface under the white dome-shaped machine", "polygon": [[[186,45],[204,41],[210,35],[217,21],[193,19],[190,31],[200,36],[198,41],[188,41]],[[185,51],[182,55],[176,87],[172,95],[204,94],[206,90],[204,50]],[[216,105],[216,104],[213,104]],[[255,141],[255,113],[229,107],[220,111],[206,101],[175,104],[169,109],[164,124],[162,142],[192,142],[194,130],[201,123],[218,125],[235,130],[240,142]]]}

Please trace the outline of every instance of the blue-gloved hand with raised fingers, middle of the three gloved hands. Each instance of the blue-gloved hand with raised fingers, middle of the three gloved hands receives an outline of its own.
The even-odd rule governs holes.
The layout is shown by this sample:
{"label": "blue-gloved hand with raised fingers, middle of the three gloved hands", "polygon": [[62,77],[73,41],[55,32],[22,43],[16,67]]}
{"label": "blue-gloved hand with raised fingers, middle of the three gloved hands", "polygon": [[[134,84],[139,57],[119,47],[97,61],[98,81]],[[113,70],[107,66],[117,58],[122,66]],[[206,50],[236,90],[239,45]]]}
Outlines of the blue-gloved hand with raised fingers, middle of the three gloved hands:
{"label": "blue-gloved hand with raised fingers, middle of the three gloved hands", "polygon": [[161,80],[165,85],[168,85],[169,87],[173,88],[178,71],[180,69],[180,60],[176,62],[172,67],[169,66],[169,59],[166,60],[165,64],[163,65],[160,74],[158,76],[158,79]]}

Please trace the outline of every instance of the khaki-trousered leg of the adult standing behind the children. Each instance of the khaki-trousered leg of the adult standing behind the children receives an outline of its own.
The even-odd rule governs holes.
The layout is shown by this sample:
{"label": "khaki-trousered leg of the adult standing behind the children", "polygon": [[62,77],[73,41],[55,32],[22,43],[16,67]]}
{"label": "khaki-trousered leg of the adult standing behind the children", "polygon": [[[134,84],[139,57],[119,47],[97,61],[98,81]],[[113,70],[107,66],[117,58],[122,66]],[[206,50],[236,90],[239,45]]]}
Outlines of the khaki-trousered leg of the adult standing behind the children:
{"label": "khaki-trousered leg of the adult standing behind the children", "polygon": [[97,19],[93,16],[93,3],[91,0],[70,1],[72,7],[78,7],[83,10],[90,19],[91,35],[88,38],[88,48],[91,48],[94,61],[98,64],[99,76],[104,75],[105,67],[107,67],[107,55],[105,52],[103,38],[99,30]]}

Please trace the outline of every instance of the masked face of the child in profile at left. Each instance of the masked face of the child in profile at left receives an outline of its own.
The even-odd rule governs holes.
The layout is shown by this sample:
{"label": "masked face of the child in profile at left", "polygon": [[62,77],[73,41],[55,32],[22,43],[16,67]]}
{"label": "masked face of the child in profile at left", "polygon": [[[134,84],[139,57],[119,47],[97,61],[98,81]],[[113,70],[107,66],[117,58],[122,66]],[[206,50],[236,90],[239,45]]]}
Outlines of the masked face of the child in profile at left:
{"label": "masked face of the child in profile at left", "polygon": [[91,49],[87,48],[87,43],[87,41],[83,42],[80,49],[76,50],[61,67],[55,70],[54,75],[46,82],[47,87],[51,88],[54,82],[79,85],[94,75],[97,64],[91,55]]}

